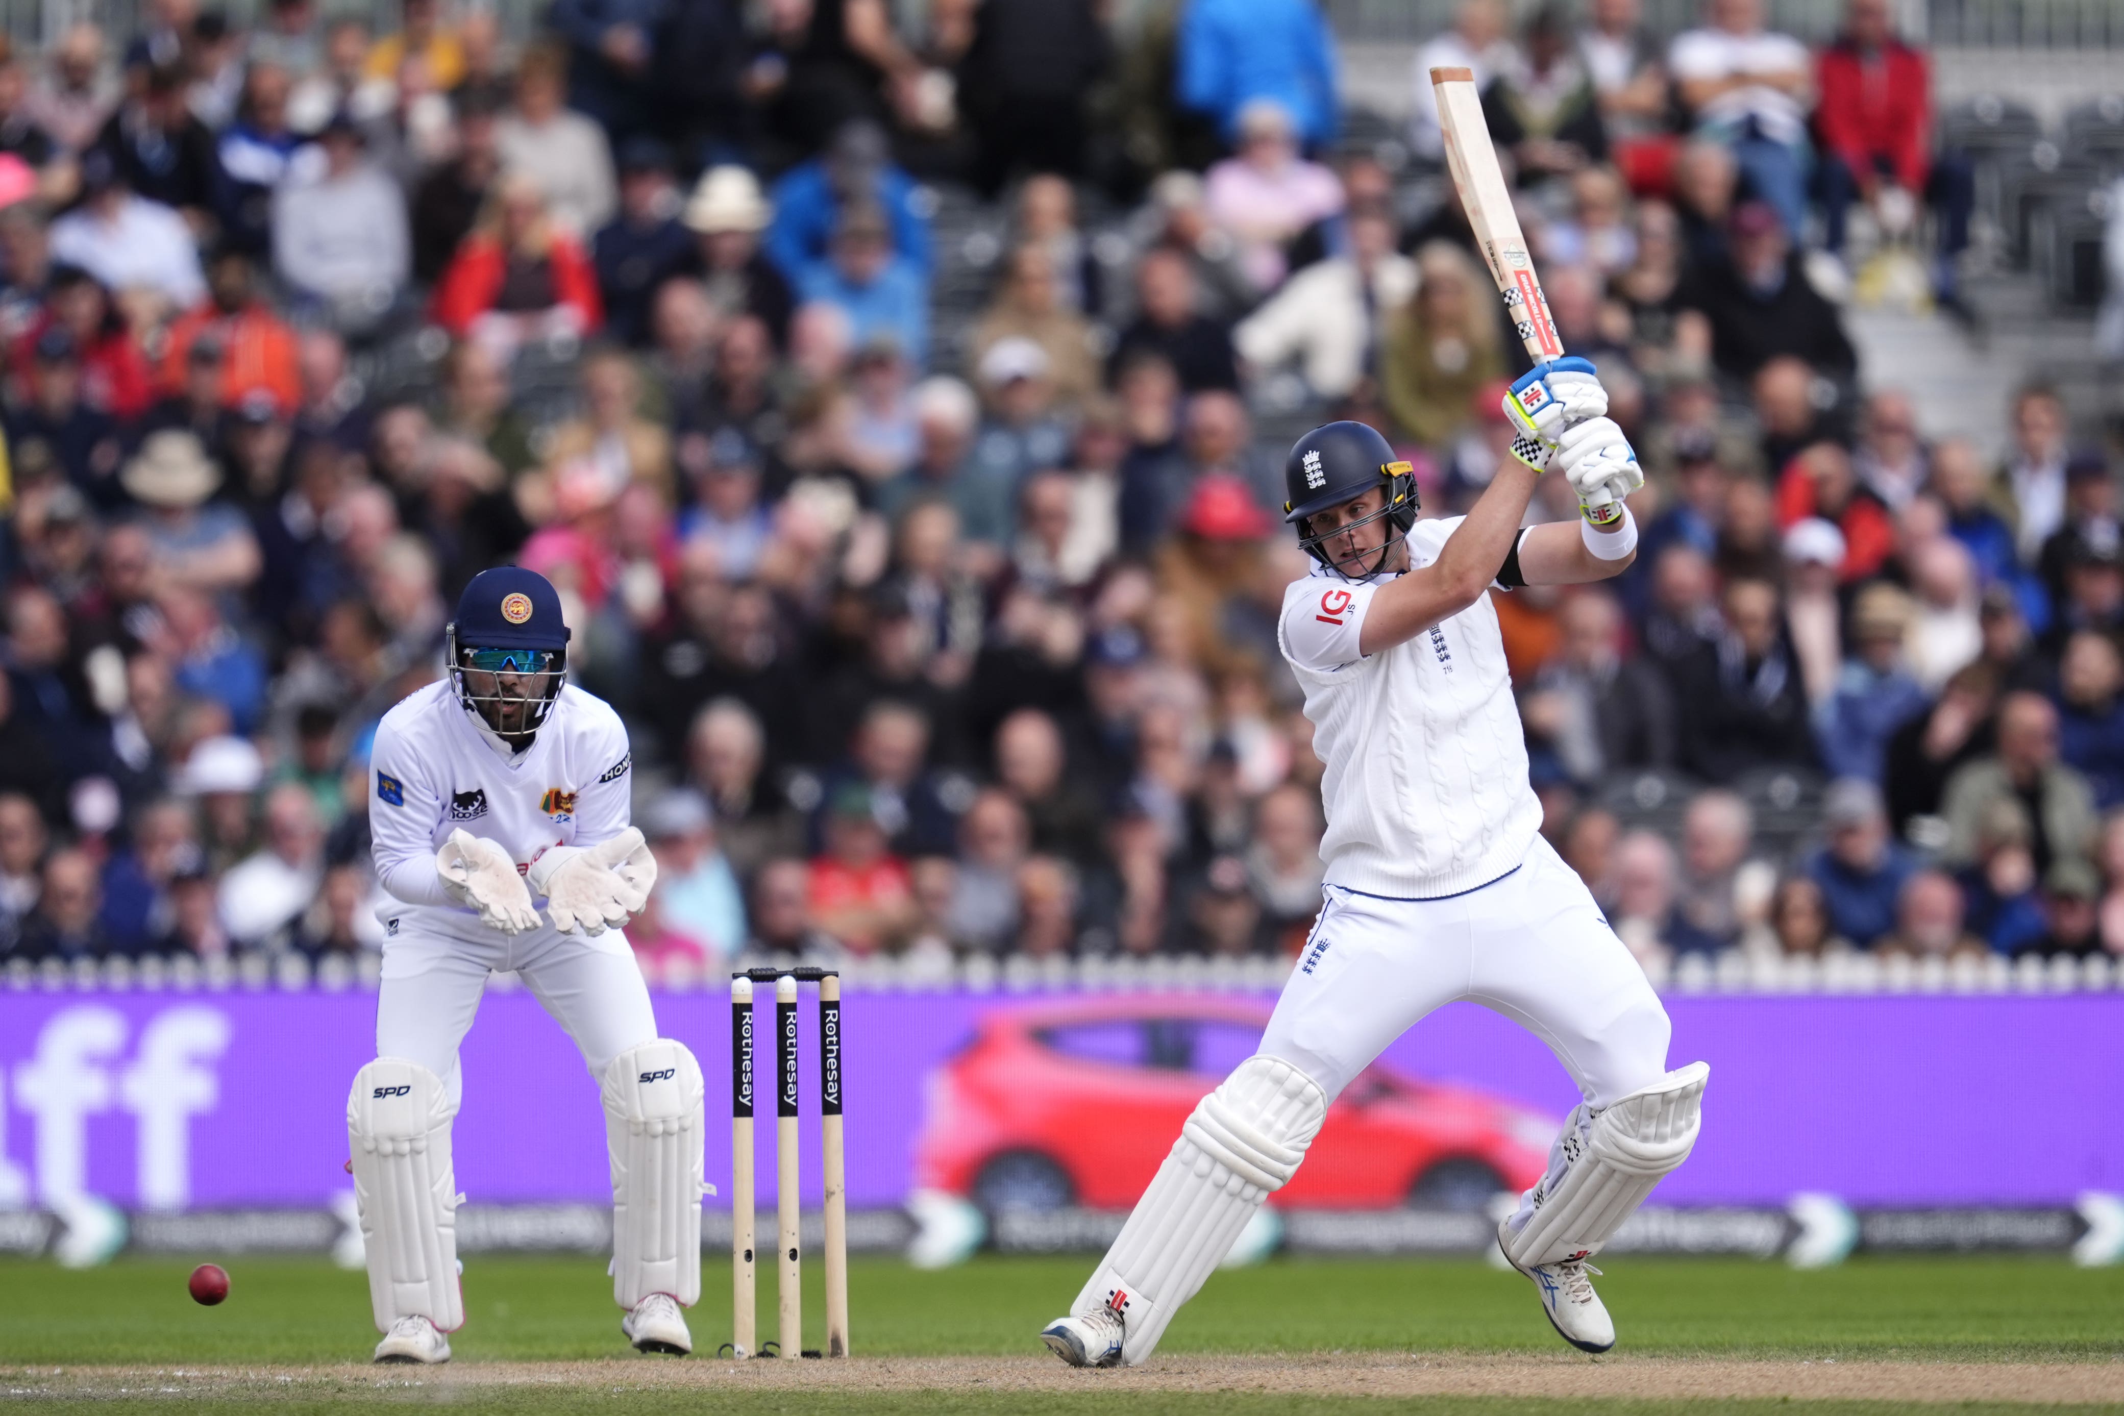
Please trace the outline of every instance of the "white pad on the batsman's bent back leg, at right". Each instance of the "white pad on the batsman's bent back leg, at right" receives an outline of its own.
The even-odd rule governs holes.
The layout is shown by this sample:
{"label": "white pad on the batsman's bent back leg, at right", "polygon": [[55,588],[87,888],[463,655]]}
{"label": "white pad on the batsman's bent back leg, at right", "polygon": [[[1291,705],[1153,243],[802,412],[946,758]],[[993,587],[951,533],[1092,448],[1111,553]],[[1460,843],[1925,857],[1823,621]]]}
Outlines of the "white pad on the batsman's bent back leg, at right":
{"label": "white pad on the batsman's bent back leg, at right", "polygon": [[1506,1257],[1534,1267],[1599,1253],[1652,1187],[1689,1159],[1710,1074],[1710,1064],[1691,1061],[1591,1121],[1582,1106],[1574,1110],[1534,1189],[1534,1212],[1504,1240]]}

